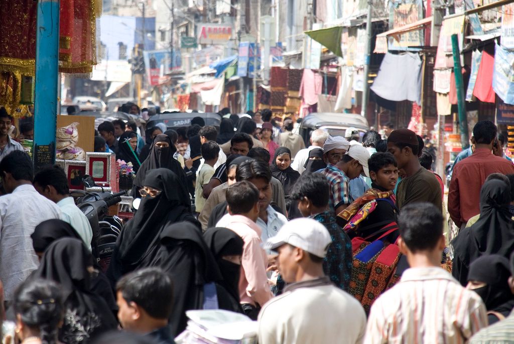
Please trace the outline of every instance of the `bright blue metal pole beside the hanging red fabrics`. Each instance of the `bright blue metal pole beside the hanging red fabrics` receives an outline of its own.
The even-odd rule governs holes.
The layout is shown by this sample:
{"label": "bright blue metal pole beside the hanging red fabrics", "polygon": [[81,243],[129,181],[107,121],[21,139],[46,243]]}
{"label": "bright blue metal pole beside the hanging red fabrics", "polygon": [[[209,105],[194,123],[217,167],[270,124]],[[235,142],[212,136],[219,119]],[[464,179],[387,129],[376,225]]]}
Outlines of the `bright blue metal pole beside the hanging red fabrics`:
{"label": "bright blue metal pole beside the hanging red fabrics", "polygon": [[56,161],[59,0],[38,0],[35,44],[34,167]]}

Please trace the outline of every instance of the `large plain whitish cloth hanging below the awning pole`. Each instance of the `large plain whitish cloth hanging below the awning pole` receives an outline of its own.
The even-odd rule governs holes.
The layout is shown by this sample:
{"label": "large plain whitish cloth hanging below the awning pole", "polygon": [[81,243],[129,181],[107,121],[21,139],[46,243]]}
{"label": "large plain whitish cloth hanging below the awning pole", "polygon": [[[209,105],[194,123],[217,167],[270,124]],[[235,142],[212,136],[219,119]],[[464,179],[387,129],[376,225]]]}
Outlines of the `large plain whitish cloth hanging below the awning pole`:
{"label": "large plain whitish cloth hanging below the awning pole", "polygon": [[421,103],[421,59],[417,53],[386,54],[371,86],[378,96]]}

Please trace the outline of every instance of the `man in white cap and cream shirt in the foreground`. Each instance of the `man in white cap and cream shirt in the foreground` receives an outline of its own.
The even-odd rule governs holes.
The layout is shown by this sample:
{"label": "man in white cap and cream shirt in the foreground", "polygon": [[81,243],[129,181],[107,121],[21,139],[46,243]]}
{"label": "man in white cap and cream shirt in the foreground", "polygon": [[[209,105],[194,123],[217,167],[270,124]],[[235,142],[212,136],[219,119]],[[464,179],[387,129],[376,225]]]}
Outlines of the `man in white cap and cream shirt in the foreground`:
{"label": "man in white cap and cream shirt in the foreground", "polygon": [[292,220],[266,247],[278,250],[284,294],[268,301],[259,314],[259,342],[361,343],[366,316],[359,301],[323,273],[331,236],[313,219]]}

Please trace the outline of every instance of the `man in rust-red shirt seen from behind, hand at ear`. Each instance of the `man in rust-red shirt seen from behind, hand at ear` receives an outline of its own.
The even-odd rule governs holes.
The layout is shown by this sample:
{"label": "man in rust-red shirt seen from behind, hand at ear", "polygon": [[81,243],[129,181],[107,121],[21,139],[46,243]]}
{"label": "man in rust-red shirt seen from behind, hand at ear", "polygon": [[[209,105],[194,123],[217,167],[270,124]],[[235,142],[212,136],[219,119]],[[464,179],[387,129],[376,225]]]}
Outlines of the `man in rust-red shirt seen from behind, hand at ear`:
{"label": "man in rust-red shirt seen from behind, hand at ear", "polygon": [[[480,189],[491,173],[514,173],[512,161],[502,158],[502,148],[496,138],[497,128],[491,121],[479,121],[473,128],[475,150],[453,169],[448,192],[448,212],[461,227],[480,213]],[[494,154],[491,153],[493,151]]]}

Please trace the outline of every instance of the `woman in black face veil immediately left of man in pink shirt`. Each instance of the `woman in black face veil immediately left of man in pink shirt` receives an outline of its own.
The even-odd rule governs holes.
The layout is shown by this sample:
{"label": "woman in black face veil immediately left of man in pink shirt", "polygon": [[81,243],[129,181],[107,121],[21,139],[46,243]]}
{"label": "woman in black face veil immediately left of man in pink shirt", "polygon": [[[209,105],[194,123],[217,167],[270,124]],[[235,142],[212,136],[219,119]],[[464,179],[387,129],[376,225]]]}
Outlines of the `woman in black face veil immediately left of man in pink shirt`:
{"label": "woman in black face veil immediately left of man in pink shirt", "polygon": [[223,227],[207,229],[204,239],[223,276],[223,281],[216,286],[219,308],[244,314],[239,296],[239,278],[245,242],[233,230]]}

